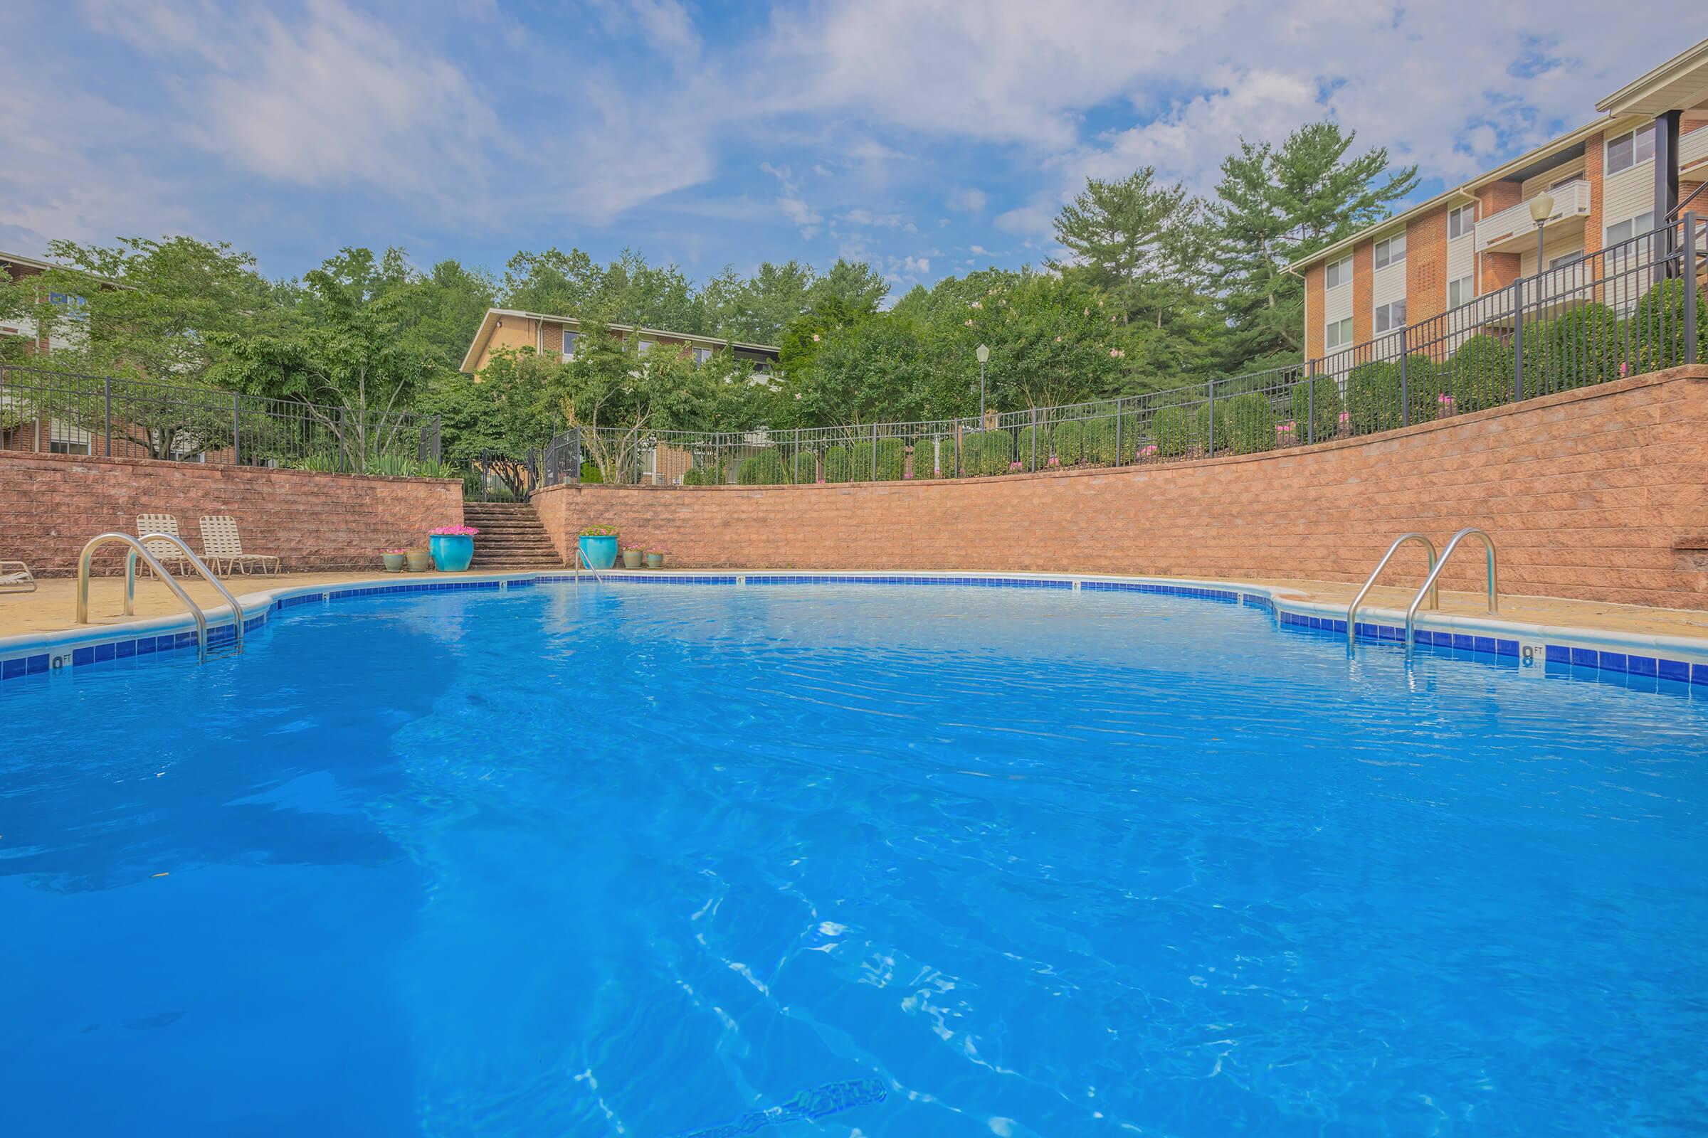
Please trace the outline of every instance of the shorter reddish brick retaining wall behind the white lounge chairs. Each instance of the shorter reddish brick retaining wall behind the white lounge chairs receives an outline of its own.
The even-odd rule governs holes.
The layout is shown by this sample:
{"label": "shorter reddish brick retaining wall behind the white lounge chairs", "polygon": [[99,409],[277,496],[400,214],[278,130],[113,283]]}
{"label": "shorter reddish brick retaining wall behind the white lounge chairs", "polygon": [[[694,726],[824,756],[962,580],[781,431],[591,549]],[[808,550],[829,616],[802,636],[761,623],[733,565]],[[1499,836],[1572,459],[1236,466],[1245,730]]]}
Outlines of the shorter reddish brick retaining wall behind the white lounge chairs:
{"label": "shorter reddish brick retaining wall behind the white lounge chairs", "polygon": [[[202,553],[203,514],[237,519],[243,548],[277,553],[287,570],[372,568],[379,549],[427,546],[427,531],[463,520],[463,485],[442,478],[374,478],[205,466],[155,459],[0,452],[0,558],[43,577],[67,575],[84,543],[137,532],[138,514],[171,514]],[[101,572],[121,566],[102,549]]]}

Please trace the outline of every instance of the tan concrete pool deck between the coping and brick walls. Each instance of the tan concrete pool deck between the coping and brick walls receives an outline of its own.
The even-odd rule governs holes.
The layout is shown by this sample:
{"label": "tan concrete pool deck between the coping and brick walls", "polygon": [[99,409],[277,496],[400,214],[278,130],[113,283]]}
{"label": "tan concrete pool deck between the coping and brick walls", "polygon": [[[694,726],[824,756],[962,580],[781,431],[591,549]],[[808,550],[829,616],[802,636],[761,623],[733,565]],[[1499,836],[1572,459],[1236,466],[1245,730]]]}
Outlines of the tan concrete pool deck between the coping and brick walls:
{"label": "tan concrete pool deck between the coping and brick walls", "polygon": [[[567,570],[565,570],[567,572]],[[762,570],[717,570],[719,573],[762,572]],[[893,570],[890,570],[893,572]],[[642,570],[644,573],[644,570]],[[494,573],[509,575],[509,573]],[[528,577],[529,573],[514,573]],[[248,594],[272,592],[277,589],[302,589],[311,585],[352,585],[352,584],[430,584],[439,580],[466,580],[473,573],[282,573],[278,577],[232,577],[227,587],[241,599]],[[1167,580],[1149,577],[1146,580]],[[184,589],[191,599],[205,609],[224,607],[222,599],[203,580],[184,578]],[[1288,599],[1303,602],[1336,606],[1342,611],[1358,592],[1356,585],[1317,582],[1317,580],[1276,580],[1250,578],[1228,582],[1230,585],[1264,585],[1274,590],[1293,594]],[[97,577],[89,587],[91,626],[121,626],[125,594],[123,580],[118,577]],[[1365,601],[1365,613],[1370,616],[1402,619],[1406,606],[1411,602],[1409,589],[1378,587]],[[1279,599],[1279,597],[1278,597]],[[0,636],[26,636],[31,633],[58,633],[79,628],[72,616],[77,601],[77,582],[70,578],[44,578],[32,594],[0,594]],[[260,599],[254,602],[260,607]],[[249,604],[244,604],[249,609]],[[176,616],[183,606],[154,578],[137,582],[135,621]],[[1483,594],[1442,592],[1442,614],[1496,619],[1501,623],[1532,624],[1558,630],[1592,630],[1600,633],[1628,636],[1679,636],[1699,640],[1708,652],[1708,613],[1686,609],[1645,609],[1629,604],[1600,604],[1594,601],[1563,601],[1556,597],[1501,597],[1500,616],[1488,618]]]}

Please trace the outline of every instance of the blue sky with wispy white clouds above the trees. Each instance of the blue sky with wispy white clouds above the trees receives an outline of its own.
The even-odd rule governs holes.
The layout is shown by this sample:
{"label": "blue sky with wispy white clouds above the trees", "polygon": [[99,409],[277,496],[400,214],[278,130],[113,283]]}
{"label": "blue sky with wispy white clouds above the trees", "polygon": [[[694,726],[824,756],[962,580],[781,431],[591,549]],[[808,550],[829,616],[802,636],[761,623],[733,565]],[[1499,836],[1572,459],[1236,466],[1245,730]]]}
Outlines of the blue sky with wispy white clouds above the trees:
{"label": "blue sky with wispy white clouds above the trees", "polygon": [[1708,34],[1674,0],[9,7],[9,253],[184,232],[292,276],[354,244],[495,271],[634,247],[695,280],[849,256],[897,295],[1050,254],[1086,176],[1208,191],[1240,136],[1313,118],[1426,196]]}

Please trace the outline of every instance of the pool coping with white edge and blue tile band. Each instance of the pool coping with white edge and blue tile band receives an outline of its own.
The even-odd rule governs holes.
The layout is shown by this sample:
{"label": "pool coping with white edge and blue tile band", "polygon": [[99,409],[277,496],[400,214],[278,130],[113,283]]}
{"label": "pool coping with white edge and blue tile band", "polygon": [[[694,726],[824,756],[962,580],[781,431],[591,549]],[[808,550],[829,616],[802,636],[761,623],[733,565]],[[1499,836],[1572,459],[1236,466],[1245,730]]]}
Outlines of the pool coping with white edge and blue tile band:
{"label": "pool coping with white edge and blue tile band", "polygon": [[[593,580],[591,573],[582,577]],[[335,585],[284,585],[237,597],[244,631],[265,624],[275,613],[302,604],[331,604],[352,597],[410,595],[422,592],[466,592],[528,589],[543,584],[572,584],[569,570],[524,573],[470,573],[458,580],[407,582],[389,577],[340,582]],[[1346,636],[1346,609],[1310,601],[1284,585],[1254,585],[1237,580],[1180,577],[1124,577],[1115,573],[1016,573],[1016,572],[799,572],[799,570],[601,570],[600,584],[622,585],[968,585],[1009,589],[1059,589],[1073,592],[1141,592],[1242,604],[1271,613],[1281,631]],[[231,606],[203,609],[208,621],[208,650],[236,640]],[[1360,643],[1399,647],[1404,613],[1368,607],[1358,621]],[[0,682],[63,672],[85,664],[195,648],[195,618],[188,613],[154,616],[121,624],[91,624],[53,633],[0,636]],[[1653,677],[1708,689],[1708,638],[1621,633],[1568,624],[1534,624],[1498,616],[1455,616],[1433,611],[1418,614],[1418,648],[1435,653],[1472,653],[1520,665],[1570,665],[1600,672]]]}

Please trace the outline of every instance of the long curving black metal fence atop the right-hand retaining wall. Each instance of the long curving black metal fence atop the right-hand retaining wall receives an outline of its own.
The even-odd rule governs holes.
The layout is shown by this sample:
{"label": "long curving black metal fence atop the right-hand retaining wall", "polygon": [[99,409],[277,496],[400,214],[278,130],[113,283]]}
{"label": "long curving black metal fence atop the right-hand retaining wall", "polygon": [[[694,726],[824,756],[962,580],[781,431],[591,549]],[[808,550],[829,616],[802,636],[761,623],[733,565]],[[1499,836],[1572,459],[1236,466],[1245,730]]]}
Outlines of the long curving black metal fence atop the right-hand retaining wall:
{"label": "long curving black metal fence atop the right-hand retaining wall", "polygon": [[1255,454],[1708,362],[1693,213],[1307,363],[1071,406],[801,430],[582,428],[541,485],[979,478]]}

